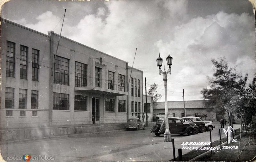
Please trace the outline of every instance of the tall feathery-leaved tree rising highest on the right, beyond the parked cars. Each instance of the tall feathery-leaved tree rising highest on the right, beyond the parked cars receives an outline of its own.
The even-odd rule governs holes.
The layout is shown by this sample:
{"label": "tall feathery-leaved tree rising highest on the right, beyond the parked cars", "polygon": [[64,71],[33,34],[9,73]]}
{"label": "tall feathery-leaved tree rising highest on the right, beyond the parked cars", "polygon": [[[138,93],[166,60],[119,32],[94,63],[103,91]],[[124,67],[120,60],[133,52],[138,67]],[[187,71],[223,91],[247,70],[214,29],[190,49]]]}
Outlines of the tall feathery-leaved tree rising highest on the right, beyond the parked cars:
{"label": "tall feathery-leaved tree rising highest on the right, beyond the parked cars", "polygon": [[211,59],[214,66],[212,77],[207,76],[210,88],[204,88],[201,93],[206,107],[213,107],[216,113],[228,114],[229,125],[232,125],[232,114],[243,105],[243,97],[247,74],[242,77],[236,69],[229,67],[225,58],[220,61]]}

